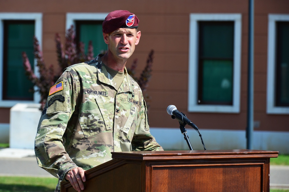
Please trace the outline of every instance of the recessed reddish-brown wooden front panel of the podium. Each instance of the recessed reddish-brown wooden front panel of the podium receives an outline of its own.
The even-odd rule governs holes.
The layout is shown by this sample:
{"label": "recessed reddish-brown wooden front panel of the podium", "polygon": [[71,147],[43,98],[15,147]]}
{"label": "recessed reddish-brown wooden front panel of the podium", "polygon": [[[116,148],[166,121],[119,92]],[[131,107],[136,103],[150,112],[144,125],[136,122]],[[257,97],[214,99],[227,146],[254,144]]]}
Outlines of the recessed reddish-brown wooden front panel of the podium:
{"label": "recessed reddish-brown wooden front panel of the podium", "polygon": [[151,191],[261,191],[261,174],[260,165],[153,166]]}

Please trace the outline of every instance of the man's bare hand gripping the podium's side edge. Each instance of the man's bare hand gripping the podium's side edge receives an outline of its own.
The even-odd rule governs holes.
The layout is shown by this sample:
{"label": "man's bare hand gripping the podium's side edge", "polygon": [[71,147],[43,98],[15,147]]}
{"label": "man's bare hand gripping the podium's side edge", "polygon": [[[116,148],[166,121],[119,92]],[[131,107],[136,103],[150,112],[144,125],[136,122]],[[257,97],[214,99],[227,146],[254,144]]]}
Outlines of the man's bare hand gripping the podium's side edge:
{"label": "man's bare hand gripping the podium's side edge", "polygon": [[83,182],[85,182],[86,179],[82,168],[77,167],[69,170],[65,179],[71,183],[76,191],[81,192],[81,190],[84,190]]}

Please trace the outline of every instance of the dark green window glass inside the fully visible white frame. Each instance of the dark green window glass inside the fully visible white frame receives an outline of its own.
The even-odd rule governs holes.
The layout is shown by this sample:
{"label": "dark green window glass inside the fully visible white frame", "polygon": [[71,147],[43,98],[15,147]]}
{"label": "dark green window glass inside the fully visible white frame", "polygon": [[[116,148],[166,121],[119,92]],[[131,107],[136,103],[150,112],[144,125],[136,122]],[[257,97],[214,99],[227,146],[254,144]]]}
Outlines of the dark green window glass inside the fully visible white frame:
{"label": "dark green window glass inside the fully visible white frame", "polygon": [[199,104],[233,102],[234,22],[199,22]]}

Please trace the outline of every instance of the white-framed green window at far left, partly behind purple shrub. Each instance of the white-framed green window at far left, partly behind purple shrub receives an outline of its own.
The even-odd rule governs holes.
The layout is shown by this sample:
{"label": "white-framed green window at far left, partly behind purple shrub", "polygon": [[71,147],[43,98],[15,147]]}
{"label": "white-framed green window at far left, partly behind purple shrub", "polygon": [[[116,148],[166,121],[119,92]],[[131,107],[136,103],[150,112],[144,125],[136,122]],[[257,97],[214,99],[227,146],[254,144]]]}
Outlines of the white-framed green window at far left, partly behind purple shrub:
{"label": "white-framed green window at far left, partly behind purple shrub", "polygon": [[[33,84],[23,68],[22,52],[26,52],[32,69],[36,69],[33,56],[33,36],[40,39],[42,14],[0,14],[0,107],[12,107],[16,103],[38,103],[40,96],[29,90]],[[37,71],[35,72],[37,74]]]}

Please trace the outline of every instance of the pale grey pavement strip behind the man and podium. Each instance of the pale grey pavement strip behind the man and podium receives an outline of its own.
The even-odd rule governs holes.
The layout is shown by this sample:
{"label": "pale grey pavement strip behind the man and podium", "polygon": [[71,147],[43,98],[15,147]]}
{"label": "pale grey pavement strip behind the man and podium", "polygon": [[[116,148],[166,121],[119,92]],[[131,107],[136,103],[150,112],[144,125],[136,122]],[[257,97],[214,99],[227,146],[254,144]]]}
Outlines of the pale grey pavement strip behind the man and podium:
{"label": "pale grey pavement strip behind the man and podium", "polygon": [[[38,167],[34,149],[0,149],[0,176],[53,177]],[[289,189],[289,166],[270,165],[270,189]]]}

